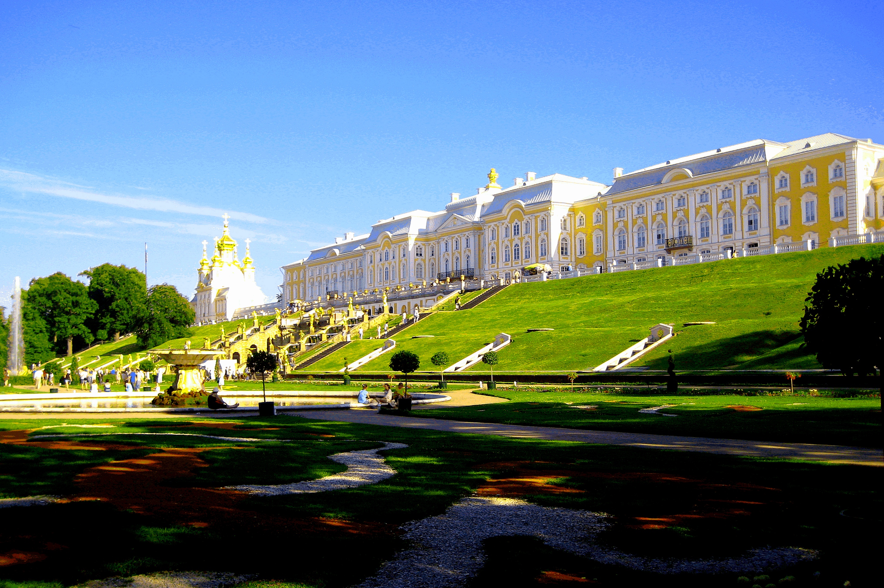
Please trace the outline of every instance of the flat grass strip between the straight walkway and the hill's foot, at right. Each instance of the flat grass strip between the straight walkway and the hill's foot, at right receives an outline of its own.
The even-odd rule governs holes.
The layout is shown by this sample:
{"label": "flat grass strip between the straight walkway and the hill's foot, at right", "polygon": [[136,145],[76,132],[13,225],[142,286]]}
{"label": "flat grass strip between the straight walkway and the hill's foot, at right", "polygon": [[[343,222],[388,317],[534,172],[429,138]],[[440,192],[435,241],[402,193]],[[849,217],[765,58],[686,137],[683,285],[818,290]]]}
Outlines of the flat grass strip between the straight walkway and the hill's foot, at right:
{"label": "flat grass strip between the straight walkway and the hill's foot, at right", "polygon": [[[542,389],[542,388],[541,388]],[[702,394],[702,393],[701,393]],[[598,431],[656,433],[754,441],[792,441],[881,447],[880,399],[819,396],[641,396],[542,392],[507,388],[492,396],[511,402],[413,411],[415,417],[508,425],[564,426]],[[674,404],[661,412],[641,409]],[[760,411],[737,411],[728,406]],[[596,406],[581,409],[575,406]]]}

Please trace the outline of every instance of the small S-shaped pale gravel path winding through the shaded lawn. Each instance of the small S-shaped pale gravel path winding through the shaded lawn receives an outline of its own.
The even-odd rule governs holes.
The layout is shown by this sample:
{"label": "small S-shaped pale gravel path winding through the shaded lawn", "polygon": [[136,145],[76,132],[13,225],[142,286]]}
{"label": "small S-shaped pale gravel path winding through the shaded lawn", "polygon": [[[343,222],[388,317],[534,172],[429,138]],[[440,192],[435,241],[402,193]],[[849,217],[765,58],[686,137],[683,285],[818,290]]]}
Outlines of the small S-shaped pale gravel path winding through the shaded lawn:
{"label": "small S-shaped pale gravel path winding through the shaded lawn", "polygon": [[259,496],[278,496],[280,494],[315,494],[317,492],[328,492],[343,488],[355,488],[357,486],[365,486],[366,484],[377,484],[377,482],[383,479],[392,478],[396,475],[396,471],[385,463],[384,456],[378,456],[377,452],[384,451],[385,449],[403,449],[407,447],[408,445],[404,443],[385,442],[384,447],[378,449],[362,449],[361,451],[336,453],[333,456],[329,456],[329,459],[332,462],[346,465],[347,471],[320,479],[310,479],[294,484],[277,484],[274,486],[257,486],[253,484],[224,486],[224,489],[240,490]]}

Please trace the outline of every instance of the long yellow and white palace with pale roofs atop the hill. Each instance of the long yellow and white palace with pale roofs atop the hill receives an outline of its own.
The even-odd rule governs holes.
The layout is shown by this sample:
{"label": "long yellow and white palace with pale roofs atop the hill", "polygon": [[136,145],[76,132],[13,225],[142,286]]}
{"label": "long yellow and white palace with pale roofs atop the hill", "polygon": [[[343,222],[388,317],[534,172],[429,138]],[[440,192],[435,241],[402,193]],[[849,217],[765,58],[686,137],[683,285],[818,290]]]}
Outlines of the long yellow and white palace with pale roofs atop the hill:
{"label": "long yellow and white palace with pale roofs atop the hill", "polygon": [[[488,177],[474,195],[451,194],[442,211],[382,219],[284,266],[284,298],[461,275],[509,279],[537,263],[553,272],[668,265],[689,252],[827,246],[831,237],[884,230],[884,146],[835,133],[757,139],[625,174],[614,168],[611,185],[528,173],[504,188],[495,170]],[[412,305],[396,312],[405,310]]]}

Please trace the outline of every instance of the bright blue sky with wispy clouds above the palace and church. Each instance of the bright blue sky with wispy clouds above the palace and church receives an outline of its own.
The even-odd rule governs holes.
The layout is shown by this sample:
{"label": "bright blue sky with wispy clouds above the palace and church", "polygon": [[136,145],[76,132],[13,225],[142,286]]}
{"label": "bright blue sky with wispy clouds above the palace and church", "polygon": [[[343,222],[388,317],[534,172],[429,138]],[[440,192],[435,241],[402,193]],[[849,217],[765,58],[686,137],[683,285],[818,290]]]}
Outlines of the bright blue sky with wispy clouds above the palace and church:
{"label": "bright blue sky with wispy clouds above the palace and church", "polygon": [[[611,169],[751,139],[884,141],[880,2],[0,3],[0,290],[203,239],[278,267],[497,168]],[[240,253],[241,254],[241,253]]]}

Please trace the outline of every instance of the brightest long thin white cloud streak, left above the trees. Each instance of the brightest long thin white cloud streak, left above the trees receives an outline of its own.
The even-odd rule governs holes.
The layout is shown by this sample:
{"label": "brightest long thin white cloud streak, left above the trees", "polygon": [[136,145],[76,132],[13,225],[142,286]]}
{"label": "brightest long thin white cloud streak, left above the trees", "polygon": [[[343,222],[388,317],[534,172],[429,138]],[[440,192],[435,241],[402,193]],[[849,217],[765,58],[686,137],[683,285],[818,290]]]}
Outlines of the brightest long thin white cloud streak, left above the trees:
{"label": "brightest long thin white cloud streak, left above the trees", "polygon": [[23,171],[0,170],[0,185],[5,185],[13,190],[20,192],[31,192],[39,194],[50,194],[61,198],[71,198],[75,200],[88,200],[90,202],[101,202],[110,204],[111,206],[137,208],[141,210],[156,210],[158,212],[178,212],[187,215],[202,216],[221,216],[227,213],[232,219],[247,221],[272,223],[275,221],[264,218],[263,216],[253,215],[251,213],[239,211],[227,211],[221,208],[200,207],[177,200],[168,200],[163,198],[122,196],[118,194],[104,194],[95,191],[90,186],[80,186],[71,184],[70,182],[60,181],[54,178],[36,176]]}

